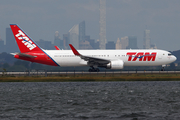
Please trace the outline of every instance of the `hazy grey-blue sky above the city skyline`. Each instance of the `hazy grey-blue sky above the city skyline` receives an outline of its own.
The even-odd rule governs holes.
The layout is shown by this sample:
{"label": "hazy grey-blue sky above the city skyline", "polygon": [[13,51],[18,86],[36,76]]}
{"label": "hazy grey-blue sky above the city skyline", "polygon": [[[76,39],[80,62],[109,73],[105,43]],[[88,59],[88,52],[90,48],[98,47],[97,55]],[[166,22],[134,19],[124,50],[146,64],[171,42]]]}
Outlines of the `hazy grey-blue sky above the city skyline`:
{"label": "hazy grey-blue sky above the city skyline", "polygon": [[[99,39],[99,0],[1,0],[0,37],[18,24],[33,40],[54,40],[85,20],[86,35]],[[143,48],[144,30],[158,49],[180,50],[180,0],[106,0],[106,38],[137,36]]]}

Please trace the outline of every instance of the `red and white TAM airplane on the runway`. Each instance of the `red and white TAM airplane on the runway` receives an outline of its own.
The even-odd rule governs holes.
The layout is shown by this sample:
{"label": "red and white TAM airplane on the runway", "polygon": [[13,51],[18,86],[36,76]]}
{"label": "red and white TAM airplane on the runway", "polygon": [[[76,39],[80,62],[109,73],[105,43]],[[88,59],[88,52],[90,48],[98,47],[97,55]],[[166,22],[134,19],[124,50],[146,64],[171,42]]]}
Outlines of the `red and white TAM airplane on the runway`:
{"label": "red and white TAM airplane on the runway", "polygon": [[99,72],[98,67],[123,69],[124,66],[160,66],[176,60],[170,52],[159,49],[124,50],[45,50],[38,46],[18,25],[10,24],[20,53],[15,58],[51,66],[89,66],[89,72]]}

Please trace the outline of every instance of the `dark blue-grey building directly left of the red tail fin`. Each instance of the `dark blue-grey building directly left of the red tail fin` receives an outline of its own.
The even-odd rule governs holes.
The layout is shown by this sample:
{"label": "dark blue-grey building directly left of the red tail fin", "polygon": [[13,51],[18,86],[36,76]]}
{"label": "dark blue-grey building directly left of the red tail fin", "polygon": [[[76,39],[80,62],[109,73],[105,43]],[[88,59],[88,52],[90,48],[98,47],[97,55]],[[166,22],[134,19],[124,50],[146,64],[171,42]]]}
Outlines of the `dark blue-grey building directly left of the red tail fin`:
{"label": "dark blue-grey building directly left of the red tail fin", "polygon": [[19,52],[16,40],[14,38],[14,35],[12,33],[11,28],[6,28],[6,52],[11,53],[11,52]]}

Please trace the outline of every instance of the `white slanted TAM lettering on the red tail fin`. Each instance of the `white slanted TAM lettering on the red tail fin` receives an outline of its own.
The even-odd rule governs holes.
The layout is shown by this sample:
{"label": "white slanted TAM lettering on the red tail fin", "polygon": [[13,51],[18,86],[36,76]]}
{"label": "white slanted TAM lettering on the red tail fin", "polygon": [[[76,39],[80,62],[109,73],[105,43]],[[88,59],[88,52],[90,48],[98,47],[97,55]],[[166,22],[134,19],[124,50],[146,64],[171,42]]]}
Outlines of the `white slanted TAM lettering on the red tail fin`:
{"label": "white slanted TAM lettering on the red tail fin", "polygon": [[29,50],[33,50],[34,48],[36,48],[36,45],[33,44],[33,42],[21,31],[18,30],[18,34],[16,34],[15,36],[19,39],[22,40],[22,43],[29,49]]}

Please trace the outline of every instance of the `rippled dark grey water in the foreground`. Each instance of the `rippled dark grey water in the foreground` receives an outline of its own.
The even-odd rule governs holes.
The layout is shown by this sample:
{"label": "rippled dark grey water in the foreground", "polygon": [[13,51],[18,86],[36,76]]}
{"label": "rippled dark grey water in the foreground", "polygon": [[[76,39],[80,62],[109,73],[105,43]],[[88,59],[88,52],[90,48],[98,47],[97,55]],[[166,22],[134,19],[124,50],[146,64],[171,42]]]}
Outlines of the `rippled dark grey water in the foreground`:
{"label": "rippled dark grey water in the foreground", "polygon": [[180,82],[0,83],[4,120],[178,120]]}

